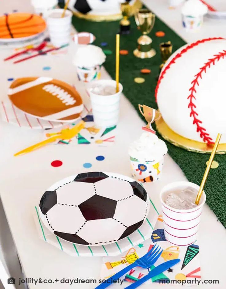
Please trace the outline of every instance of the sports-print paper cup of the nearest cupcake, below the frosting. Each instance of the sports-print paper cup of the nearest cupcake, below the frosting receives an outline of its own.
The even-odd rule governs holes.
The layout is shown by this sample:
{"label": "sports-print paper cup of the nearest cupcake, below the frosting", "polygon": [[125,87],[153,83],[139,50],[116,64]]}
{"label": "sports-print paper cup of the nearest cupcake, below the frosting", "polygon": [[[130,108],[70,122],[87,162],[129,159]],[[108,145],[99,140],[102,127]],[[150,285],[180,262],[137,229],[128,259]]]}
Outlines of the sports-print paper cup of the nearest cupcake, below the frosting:
{"label": "sports-print paper cup of the nearest cupcake, below the frosting", "polygon": [[130,164],[133,178],[141,183],[157,181],[162,175],[164,156],[155,160],[138,160],[130,156]]}

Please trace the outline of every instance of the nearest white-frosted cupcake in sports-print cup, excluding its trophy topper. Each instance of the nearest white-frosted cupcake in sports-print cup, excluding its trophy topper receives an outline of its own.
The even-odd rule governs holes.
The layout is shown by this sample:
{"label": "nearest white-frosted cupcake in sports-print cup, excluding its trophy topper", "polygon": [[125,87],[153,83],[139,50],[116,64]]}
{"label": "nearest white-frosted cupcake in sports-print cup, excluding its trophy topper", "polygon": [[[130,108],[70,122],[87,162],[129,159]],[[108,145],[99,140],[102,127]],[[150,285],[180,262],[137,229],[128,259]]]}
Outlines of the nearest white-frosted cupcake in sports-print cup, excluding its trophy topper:
{"label": "nearest white-frosted cupcake in sports-print cup, excluding its trophy topper", "polygon": [[167,146],[152,132],[144,132],[129,147],[132,175],[138,182],[157,181],[162,174]]}

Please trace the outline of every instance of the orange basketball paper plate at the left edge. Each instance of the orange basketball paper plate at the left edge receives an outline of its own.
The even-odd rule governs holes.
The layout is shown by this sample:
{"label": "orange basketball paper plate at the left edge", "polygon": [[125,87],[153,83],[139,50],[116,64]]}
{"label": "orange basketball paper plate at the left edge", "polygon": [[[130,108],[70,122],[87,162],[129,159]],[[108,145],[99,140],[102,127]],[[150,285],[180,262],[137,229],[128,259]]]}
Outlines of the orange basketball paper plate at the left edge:
{"label": "orange basketball paper plate at the left edge", "polygon": [[45,20],[30,13],[5,14],[0,17],[0,42],[16,42],[44,32]]}

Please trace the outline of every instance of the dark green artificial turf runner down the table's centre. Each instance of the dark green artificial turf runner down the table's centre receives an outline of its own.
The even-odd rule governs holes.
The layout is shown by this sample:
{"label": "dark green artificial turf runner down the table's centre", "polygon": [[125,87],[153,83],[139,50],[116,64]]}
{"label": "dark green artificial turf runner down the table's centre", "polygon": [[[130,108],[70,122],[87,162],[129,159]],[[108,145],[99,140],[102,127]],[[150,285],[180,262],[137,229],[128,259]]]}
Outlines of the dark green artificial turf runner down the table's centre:
{"label": "dark green artificial turf runner down the table's centre", "polygon": [[[115,34],[119,32],[119,21],[113,22],[90,22],[73,16],[72,24],[78,32],[88,31],[95,35],[96,40],[93,44],[100,46],[103,50],[110,50],[112,54],[107,55],[104,67],[111,77],[115,78]],[[155,32],[164,31],[164,37],[155,36]],[[137,47],[137,39],[141,35],[131,18],[131,34],[120,37],[120,49],[129,51],[128,55],[120,55],[120,82],[123,85],[123,93],[138,112],[138,104],[145,104],[157,108],[154,99],[154,90],[161,64],[159,44],[170,40],[173,44],[173,52],[185,44],[173,30],[156,17],[155,25],[150,33],[153,40],[152,47],[157,54],[150,59],[139,59],[133,55],[133,50]],[[101,46],[106,42],[107,46]],[[107,54],[107,53],[106,53]],[[149,68],[150,74],[141,74],[142,68]],[[145,82],[138,84],[134,82],[135,77],[145,78]],[[138,112],[139,116],[141,114]],[[129,117],[129,116],[128,116]],[[173,160],[181,167],[186,178],[196,184],[200,184],[206,168],[209,154],[197,154],[173,146],[167,142],[168,152]],[[216,155],[215,160],[219,162],[217,169],[211,169],[205,192],[207,204],[214,211],[219,221],[226,228],[226,155]]]}

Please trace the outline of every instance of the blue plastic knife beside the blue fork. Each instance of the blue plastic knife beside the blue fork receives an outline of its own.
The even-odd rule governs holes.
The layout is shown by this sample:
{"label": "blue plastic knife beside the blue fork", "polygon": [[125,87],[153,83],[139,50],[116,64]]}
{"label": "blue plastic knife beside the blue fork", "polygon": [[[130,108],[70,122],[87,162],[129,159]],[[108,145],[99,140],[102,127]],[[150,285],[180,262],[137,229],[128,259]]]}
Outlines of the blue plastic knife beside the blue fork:
{"label": "blue plastic knife beside the blue fork", "polygon": [[126,288],[129,288],[129,289],[137,288],[138,286],[140,286],[141,284],[143,284],[144,282],[146,282],[150,278],[159,275],[160,273],[166,271],[167,269],[169,269],[170,267],[172,267],[173,265],[175,265],[179,262],[180,262],[180,259],[174,259],[174,260],[166,261],[166,262],[158,265],[157,267],[155,267],[146,276],[142,277],[141,279],[139,279],[135,283],[132,283],[130,286],[128,286]]}

